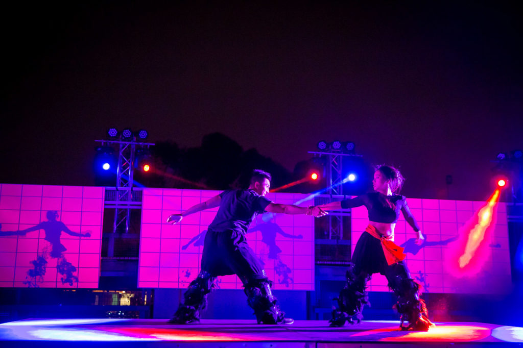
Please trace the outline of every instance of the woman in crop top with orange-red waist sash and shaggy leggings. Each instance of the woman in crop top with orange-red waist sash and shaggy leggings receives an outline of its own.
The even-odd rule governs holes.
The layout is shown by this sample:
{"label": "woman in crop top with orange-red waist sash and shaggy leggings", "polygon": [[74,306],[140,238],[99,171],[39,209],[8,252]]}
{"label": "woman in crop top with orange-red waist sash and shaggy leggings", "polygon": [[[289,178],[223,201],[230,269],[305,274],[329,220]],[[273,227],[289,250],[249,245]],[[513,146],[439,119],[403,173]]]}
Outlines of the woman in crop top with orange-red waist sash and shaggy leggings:
{"label": "woman in crop top with orange-red waist sash and shaggy leggings", "polygon": [[[373,273],[383,274],[397,296],[396,309],[401,315],[402,330],[427,331],[434,325],[428,320],[425,301],[419,297],[419,284],[412,279],[403,261],[403,248],[394,244],[394,227],[400,211],[416,232],[416,243],[420,245],[424,239],[405,196],[394,194],[400,191],[403,181],[396,168],[380,166],[372,180],[376,192],[319,206],[329,211],[365,205],[369,211],[369,226],[356,244],[347,271],[347,285],[337,298],[339,308],[332,312],[331,326],[343,326],[345,321],[354,323],[353,318],[360,322],[363,306],[369,305],[365,288]],[[408,324],[404,325],[404,322]]]}

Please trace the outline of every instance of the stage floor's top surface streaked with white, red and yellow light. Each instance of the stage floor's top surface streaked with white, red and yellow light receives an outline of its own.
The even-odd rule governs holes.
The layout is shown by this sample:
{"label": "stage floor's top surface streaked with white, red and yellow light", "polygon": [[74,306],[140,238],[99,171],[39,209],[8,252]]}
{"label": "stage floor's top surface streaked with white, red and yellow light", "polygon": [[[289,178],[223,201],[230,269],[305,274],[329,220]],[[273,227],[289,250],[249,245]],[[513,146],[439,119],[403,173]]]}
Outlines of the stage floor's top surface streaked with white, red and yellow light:
{"label": "stage floor's top surface streaked with white, red and yellow light", "polygon": [[185,326],[164,319],[35,319],[0,324],[0,340],[83,342],[523,342],[523,328],[440,322],[428,332],[399,330],[397,321],[329,328],[326,321],[257,325],[254,320],[202,320]]}

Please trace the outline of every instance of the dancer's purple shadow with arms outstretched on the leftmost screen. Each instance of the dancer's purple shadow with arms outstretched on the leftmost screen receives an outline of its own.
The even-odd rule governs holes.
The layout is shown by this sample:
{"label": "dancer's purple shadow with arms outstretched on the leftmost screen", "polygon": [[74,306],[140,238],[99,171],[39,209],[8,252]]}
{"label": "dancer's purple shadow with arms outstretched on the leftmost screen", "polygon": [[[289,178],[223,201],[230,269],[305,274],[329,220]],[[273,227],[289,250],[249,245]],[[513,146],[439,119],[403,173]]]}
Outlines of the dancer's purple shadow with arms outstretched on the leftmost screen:
{"label": "dancer's purple shadow with arms outstretched on the leftmost screen", "polygon": [[44,239],[51,244],[51,250],[49,250],[49,246],[43,247],[37,259],[30,262],[33,265],[33,269],[27,271],[27,280],[24,284],[28,287],[38,287],[38,283],[43,281],[43,276],[46,274],[47,260],[51,257],[52,259],[58,259],[56,270],[61,274],[62,284],[67,283],[72,286],[73,283],[78,282],[78,277],[73,275],[73,273],[76,272],[76,267],[63,256],[63,252],[67,249],[60,242],[60,235],[63,231],[75,237],[90,237],[90,231],[86,231],[86,233],[73,232],[69,227],[65,226],[63,222],[57,220],[57,211],[50,210],[46,216],[48,221],[43,221],[38,225],[18,231],[18,233],[25,235],[28,232],[43,229],[46,233]]}

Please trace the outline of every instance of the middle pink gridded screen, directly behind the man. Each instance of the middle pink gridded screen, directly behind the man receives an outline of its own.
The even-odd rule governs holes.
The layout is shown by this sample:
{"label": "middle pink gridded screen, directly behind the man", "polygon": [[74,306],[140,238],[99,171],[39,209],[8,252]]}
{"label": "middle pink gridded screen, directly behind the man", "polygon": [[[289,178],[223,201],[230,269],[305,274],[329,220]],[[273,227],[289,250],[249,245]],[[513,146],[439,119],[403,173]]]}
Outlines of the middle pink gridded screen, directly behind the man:
{"label": "middle pink gridded screen, directly behind the man", "polygon": [[[144,189],[139,257],[139,287],[185,288],[200,271],[203,240],[218,208],[192,214],[179,225],[166,224],[170,214],[219,194],[221,191]],[[292,204],[307,195],[271,193],[267,198]],[[303,201],[302,206],[313,204]],[[314,222],[305,215],[258,215],[247,241],[265,263],[275,289],[314,290]],[[218,278],[222,289],[241,289],[236,275]]]}

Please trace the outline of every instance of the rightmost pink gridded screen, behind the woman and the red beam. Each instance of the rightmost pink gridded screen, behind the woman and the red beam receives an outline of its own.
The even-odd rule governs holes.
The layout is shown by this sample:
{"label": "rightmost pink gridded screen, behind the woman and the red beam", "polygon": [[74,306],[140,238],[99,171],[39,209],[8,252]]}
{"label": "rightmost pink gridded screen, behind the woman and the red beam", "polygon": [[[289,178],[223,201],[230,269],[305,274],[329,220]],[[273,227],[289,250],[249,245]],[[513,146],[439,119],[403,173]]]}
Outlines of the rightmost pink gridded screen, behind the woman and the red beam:
{"label": "rightmost pink gridded screen, behind the woman and the red beam", "polygon": [[[416,247],[414,230],[403,216],[394,231],[395,243],[405,248],[406,262],[411,275],[429,293],[480,293],[503,292],[510,285],[510,252],[506,204],[498,203],[496,223],[487,234],[487,259],[476,276],[457,278],[448,272],[448,255],[457,247],[457,238],[465,233],[463,226],[485,202],[408,199],[408,205],[423,233],[427,235],[423,248]],[[352,251],[369,222],[367,208],[351,211]],[[486,246],[488,244],[488,246]],[[389,291],[388,282],[381,274],[374,274],[369,291]]]}

